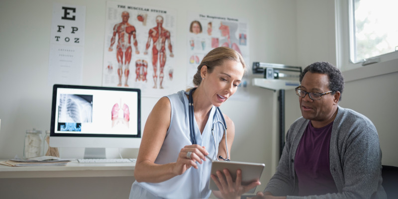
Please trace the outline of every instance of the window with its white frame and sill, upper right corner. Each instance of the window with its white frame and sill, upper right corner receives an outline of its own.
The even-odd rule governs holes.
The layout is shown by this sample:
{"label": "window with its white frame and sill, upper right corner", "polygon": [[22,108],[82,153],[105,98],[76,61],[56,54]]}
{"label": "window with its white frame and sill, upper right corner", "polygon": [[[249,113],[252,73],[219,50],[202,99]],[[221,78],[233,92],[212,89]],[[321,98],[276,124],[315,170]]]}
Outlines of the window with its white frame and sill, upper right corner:
{"label": "window with its white frame and sill, upper right corner", "polygon": [[335,3],[340,70],[371,63],[378,63],[372,65],[378,67],[388,62],[389,73],[398,71],[398,67],[391,67],[391,61],[398,63],[398,0],[335,0]]}

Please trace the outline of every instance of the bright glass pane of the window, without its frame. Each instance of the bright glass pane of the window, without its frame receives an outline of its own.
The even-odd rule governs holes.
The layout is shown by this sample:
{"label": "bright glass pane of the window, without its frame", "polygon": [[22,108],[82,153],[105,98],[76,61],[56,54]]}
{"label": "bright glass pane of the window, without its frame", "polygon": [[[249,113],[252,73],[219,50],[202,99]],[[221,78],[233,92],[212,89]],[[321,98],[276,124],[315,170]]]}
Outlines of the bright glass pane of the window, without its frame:
{"label": "bright glass pane of the window, without its frame", "polygon": [[350,61],[398,50],[397,0],[351,0]]}

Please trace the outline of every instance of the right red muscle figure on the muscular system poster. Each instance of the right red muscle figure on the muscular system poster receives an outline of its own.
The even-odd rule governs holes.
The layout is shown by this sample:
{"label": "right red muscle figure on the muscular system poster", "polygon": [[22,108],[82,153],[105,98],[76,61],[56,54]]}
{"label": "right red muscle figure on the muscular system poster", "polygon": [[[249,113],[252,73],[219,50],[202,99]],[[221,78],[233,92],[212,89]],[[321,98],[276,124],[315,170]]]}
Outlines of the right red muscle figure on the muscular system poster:
{"label": "right red muscle figure on the muscular system poster", "polygon": [[173,50],[170,42],[170,32],[162,27],[163,17],[158,15],[156,16],[156,27],[153,27],[149,30],[148,33],[148,41],[146,43],[146,49],[144,51],[144,55],[148,54],[148,48],[151,45],[151,40],[153,40],[152,46],[152,66],[153,66],[153,81],[155,85],[154,89],[157,88],[157,70],[158,70],[158,60],[159,60],[159,88],[163,89],[163,77],[164,77],[164,67],[166,65],[166,41],[168,42],[168,48],[170,51],[170,57],[174,57]]}

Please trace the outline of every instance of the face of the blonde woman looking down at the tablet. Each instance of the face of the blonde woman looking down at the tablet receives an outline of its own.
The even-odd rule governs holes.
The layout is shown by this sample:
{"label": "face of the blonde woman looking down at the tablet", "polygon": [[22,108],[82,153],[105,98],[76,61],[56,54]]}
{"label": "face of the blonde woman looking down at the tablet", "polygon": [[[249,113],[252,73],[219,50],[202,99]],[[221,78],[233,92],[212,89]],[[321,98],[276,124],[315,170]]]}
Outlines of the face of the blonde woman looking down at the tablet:
{"label": "face of the blonde woman looking down at the tablet", "polygon": [[211,73],[206,73],[202,83],[211,103],[220,106],[231,97],[241,83],[243,74],[242,64],[232,60],[225,60],[222,65],[214,67]]}

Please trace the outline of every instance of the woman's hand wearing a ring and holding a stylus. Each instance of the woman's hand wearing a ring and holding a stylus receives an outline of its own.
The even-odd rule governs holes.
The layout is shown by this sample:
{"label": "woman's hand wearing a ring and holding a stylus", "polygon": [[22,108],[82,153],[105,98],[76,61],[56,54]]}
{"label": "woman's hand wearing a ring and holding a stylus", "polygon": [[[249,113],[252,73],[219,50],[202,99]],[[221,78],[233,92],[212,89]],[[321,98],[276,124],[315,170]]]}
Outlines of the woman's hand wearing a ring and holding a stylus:
{"label": "woman's hand wearing a ring and holding a stylus", "polygon": [[187,169],[194,167],[198,169],[198,164],[202,164],[203,161],[206,161],[205,155],[208,155],[206,149],[197,144],[187,145],[180,150],[178,154],[176,166],[173,168],[173,172],[176,175],[181,175]]}

